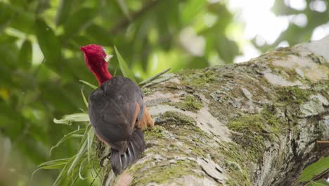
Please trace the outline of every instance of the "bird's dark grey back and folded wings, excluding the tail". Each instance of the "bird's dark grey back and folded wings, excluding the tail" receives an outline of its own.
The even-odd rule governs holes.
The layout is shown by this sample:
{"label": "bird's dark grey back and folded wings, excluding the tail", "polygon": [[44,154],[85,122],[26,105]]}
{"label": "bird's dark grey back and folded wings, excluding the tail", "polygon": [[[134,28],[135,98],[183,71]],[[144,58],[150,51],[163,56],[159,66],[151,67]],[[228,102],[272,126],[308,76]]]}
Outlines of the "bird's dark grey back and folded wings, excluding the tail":
{"label": "bird's dark grey back and folded wings, excluding the tail", "polygon": [[[141,89],[125,77],[113,77],[104,82],[89,96],[89,118],[96,135],[117,150],[125,149],[138,115],[143,98]],[[117,146],[117,147],[113,147]]]}

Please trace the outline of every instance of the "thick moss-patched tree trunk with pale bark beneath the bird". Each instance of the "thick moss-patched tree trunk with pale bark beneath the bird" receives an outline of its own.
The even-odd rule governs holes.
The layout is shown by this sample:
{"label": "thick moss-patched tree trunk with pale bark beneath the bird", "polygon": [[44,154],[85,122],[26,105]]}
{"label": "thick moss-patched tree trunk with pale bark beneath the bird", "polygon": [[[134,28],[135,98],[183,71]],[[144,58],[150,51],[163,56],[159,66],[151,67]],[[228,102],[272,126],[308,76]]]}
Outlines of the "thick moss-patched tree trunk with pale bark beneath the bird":
{"label": "thick moss-patched tree trunk with pale bark beneath the bird", "polygon": [[247,63],[183,70],[143,87],[143,157],[103,185],[298,185],[328,148],[329,37]]}

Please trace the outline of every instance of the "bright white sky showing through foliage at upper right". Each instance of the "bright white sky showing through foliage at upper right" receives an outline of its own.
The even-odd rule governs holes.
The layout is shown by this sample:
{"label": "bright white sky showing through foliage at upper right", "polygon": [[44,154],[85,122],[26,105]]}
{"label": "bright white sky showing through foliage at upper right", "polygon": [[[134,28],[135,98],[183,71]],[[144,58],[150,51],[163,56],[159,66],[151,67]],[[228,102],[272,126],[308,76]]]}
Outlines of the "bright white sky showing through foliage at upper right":
{"label": "bright white sky showing through foliage at upper right", "polygon": [[[307,8],[305,0],[285,0],[284,3],[297,11],[303,11]],[[298,27],[307,25],[307,16],[304,13],[292,16],[276,16],[271,11],[273,4],[274,0],[228,1],[230,11],[240,12],[235,16],[235,21],[245,24],[242,36],[245,41],[240,43],[243,55],[237,56],[234,59],[235,63],[248,61],[250,58],[255,58],[261,54],[251,42],[248,42],[249,39],[255,38],[255,42],[259,46],[273,44],[290,23]],[[313,11],[324,12],[327,7],[324,1],[316,0],[310,4],[310,8]],[[329,22],[316,27],[311,40],[318,40],[327,35],[329,35]],[[289,46],[289,43],[282,41],[278,46]]]}

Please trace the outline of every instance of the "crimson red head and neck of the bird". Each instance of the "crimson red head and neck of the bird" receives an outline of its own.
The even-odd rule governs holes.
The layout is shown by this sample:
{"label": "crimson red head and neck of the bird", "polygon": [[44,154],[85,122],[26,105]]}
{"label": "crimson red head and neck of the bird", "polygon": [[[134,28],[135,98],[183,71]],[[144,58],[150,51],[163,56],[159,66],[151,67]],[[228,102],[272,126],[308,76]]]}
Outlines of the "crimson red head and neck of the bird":
{"label": "crimson red head and neck of the bird", "polygon": [[108,72],[108,63],[106,62],[108,57],[102,46],[96,44],[89,44],[82,46],[81,51],[84,53],[84,61],[86,66],[96,76],[99,85],[112,78],[112,75]]}

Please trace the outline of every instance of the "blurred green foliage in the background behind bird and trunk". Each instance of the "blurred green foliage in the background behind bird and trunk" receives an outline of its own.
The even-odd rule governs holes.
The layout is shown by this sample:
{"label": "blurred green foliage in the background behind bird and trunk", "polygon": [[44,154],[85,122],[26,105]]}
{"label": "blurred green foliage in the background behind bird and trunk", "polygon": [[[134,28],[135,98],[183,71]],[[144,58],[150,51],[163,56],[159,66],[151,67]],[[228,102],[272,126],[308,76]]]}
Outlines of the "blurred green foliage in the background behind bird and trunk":
{"label": "blurred green foliage in the background behind bird and trunk", "polygon": [[[304,13],[308,24],[290,25],[275,44],[257,46],[262,51],[282,40],[305,42],[314,27],[328,21],[328,7],[322,13],[296,11],[276,1],[273,10],[278,15]],[[214,57],[232,63],[240,54],[239,41],[228,37],[228,27],[238,24],[234,14],[225,1],[0,1],[0,185],[51,185],[57,171],[40,171],[31,181],[32,171],[44,161],[76,154],[79,138],[54,149],[51,157],[49,150],[79,129],[53,123],[65,113],[86,110],[80,89],[85,87],[88,95],[91,88],[79,80],[97,85],[80,46],[101,44],[109,54],[117,46],[141,82],[169,67],[217,64]],[[117,69],[117,58],[112,58],[109,70],[121,75]]]}

